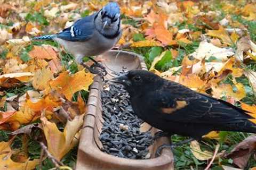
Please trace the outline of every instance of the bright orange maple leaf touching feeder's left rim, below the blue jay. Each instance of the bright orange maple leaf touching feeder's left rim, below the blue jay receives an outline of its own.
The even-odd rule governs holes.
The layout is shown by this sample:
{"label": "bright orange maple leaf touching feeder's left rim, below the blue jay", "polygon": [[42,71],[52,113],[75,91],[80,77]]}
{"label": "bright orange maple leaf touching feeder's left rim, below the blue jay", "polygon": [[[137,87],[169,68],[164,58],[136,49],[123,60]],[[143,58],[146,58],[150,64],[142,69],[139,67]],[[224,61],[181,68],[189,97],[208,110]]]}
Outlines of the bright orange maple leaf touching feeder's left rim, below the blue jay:
{"label": "bright orange maple leaf touching feeder's left rim, below the blue jay", "polygon": [[68,100],[71,100],[74,93],[79,90],[88,90],[93,82],[93,75],[86,73],[84,70],[70,75],[68,71],[60,73],[59,77],[50,81],[50,87],[46,89],[46,93],[51,90],[56,90],[60,94],[65,95]]}

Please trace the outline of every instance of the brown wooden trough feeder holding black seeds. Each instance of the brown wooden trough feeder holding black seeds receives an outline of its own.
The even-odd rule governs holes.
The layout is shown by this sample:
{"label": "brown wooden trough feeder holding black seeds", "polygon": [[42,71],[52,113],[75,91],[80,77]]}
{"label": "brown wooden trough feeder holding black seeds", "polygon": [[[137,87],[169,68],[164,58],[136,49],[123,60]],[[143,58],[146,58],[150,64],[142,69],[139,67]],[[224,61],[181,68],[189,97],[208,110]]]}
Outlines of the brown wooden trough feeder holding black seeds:
{"label": "brown wooden trough feeder holding black seeds", "polygon": [[[145,62],[138,54],[110,50],[103,55],[105,61],[103,61],[102,64],[108,71],[105,79],[114,78],[116,75],[113,72],[119,72],[123,67],[126,67],[126,70],[147,70]],[[118,57],[116,57],[117,55]],[[159,146],[169,143],[167,138],[159,138],[149,147],[151,155],[150,159],[119,158],[106,154],[100,150],[102,144],[99,140],[99,136],[102,129],[102,123],[104,122],[101,107],[102,88],[101,78],[98,76],[94,77],[87,103],[87,114],[84,118],[84,125],[78,147],[76,169],[173,169],[173,154],[170,149],[163,149],[161,156],[157,158],[154,157],[155,151]],[[148,124],[143,123],[141,131],[147,130],[150,130],[152,135],[157,132],[157,129],[151,128]]]}

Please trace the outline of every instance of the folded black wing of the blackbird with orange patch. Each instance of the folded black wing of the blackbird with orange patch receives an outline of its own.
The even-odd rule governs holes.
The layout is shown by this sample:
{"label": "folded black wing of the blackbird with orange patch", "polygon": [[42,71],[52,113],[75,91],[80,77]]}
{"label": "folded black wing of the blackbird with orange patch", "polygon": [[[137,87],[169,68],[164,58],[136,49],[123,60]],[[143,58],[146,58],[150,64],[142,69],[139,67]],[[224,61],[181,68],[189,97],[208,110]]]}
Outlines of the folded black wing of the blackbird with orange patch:
{"label": "folded black wing of the blackbird with orange patch", "polygon": [[[171,87],[169,87],[171,86]],[[240,123],[249,118],[243,109],[226,101],[199,94],[178,83],[151,92],[154,104],[149,104],[166,120],[184,123]],[[147,96],[149,98],[149,96]]]}

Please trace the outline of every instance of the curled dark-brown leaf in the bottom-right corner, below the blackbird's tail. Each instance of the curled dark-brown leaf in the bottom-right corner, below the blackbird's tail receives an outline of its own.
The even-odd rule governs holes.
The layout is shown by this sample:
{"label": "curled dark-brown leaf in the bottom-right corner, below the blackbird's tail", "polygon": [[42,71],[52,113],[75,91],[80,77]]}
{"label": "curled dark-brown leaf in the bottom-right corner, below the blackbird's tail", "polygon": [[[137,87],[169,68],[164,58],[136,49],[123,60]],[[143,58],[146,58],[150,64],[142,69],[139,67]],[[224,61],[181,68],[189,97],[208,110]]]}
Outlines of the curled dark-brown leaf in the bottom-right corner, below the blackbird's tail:
{"label": "curled dark-brown leaf in the bottom-right corner, below the blackbird's tail", "polygon": [[233,164],[239,168],[244,169],[255,147],[256,136],[252,135],[235,146],[235,148],[230,151],[227,157],[233,159]]}

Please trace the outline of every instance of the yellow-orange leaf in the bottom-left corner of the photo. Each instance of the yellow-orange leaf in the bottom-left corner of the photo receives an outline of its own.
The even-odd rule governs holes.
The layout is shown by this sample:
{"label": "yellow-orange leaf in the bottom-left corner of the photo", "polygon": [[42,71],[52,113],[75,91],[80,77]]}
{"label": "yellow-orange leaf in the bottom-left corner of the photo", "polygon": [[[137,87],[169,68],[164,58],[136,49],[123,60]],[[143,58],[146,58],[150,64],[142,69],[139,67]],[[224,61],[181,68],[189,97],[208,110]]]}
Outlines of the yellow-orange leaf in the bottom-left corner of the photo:
{"label": "yellow-orange leaf in the bottom-left corner of the photo", "polygon": [[10,148],[11,143],[12,139],[8,142],[0,142],[0,169],[30,170],[39,165],[39,159],[29,160],[27,158],[25,162],[14,162],[11,158],[13,155],[13,150]]}

